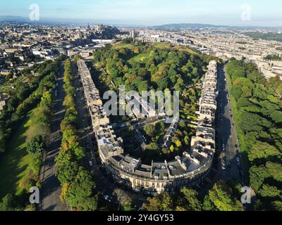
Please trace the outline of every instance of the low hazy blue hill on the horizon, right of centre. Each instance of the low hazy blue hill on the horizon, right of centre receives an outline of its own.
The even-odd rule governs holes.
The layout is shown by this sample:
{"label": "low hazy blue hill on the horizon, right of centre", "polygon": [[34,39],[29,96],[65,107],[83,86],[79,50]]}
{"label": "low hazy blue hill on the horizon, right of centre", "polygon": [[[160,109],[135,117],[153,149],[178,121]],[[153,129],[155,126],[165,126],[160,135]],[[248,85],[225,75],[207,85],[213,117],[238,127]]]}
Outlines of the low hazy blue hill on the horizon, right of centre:
{"label": "low hazy blue hill on the horizon, right of centre", "polygon": [[173,23],[173,24],[154,26],[152,28],[157,30],[180,30],[187,28],[215,28],[215,27],[228,27],[228,26],[200,24],[200,23]]}

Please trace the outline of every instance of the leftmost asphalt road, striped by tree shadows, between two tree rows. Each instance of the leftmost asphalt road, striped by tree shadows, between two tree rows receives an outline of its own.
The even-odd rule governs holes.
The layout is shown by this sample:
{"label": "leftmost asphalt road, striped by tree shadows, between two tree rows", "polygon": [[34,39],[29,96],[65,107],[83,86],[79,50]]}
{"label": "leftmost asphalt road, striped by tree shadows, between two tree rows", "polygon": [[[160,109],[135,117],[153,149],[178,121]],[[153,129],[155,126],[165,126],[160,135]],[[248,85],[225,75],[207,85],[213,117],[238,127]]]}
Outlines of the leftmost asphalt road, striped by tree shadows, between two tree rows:
{"label": "leftmost asphalt road, striped by tree shadows, between two tree rows", "polygon": [[56,87],[56,95],[53,102],[53,115],[51,120],[51,135],[47,143],[47,153],[44,154],[43,164],[40,171],[41,188],[41,204],[39,210],[42,211],[67,211],[66,204],[61,203],[61,184],[56,178],[55,158],[59,155],[61,147],[61,129],[60,124],[65,115],[63,108],[63,100],[65,97],[63,91],[63,65],[58,77],[58,86]]}

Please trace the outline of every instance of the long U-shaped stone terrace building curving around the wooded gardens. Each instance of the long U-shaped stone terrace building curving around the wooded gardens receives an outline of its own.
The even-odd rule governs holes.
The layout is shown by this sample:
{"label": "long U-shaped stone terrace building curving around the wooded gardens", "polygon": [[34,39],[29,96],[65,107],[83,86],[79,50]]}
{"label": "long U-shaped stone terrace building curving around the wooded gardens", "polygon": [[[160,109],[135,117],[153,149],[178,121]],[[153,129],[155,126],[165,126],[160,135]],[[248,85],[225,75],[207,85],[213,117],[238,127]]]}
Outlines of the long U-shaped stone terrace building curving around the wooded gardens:
{"label": "long U-shaped stone terrace building curving around the wooded gardens", "polygon": [[209,63],[202,86],[199,122],[192,148],[172,161],[142,164],[141,159],[123,154],[122,139],[117,139],[102,106],[90,71],[84,60],[78,61],[78,70],[85,91],[92,126],[97,139],[99,155],[104,167],[114,179],[149,195],[162,191],[173,192],[183,186],[195,186],[208,174],[215,152],[214,117],[216,113],[217,68],[216,61]]}

